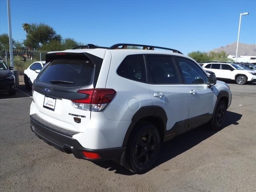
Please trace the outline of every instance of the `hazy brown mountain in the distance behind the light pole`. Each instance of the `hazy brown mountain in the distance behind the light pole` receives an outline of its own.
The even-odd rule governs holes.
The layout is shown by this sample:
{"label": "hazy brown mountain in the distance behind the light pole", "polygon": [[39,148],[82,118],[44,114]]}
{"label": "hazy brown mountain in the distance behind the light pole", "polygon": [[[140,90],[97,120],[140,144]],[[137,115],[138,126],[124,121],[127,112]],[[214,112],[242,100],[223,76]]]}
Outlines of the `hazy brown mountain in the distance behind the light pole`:
{"label": "hazy brown mountain in the distance behind the light pole", "polygon": [[[212,51],[214,52],[220,52],[220,51],[225,51],[226,54],[228,55],[236,55],[236,42],[226,45],[226,46],[221,46],[220,48],[216,48]],[[238,54],[237,56],[256,56],[256,44],[244,44],[244,43],[239,43],[238,45]]]}

